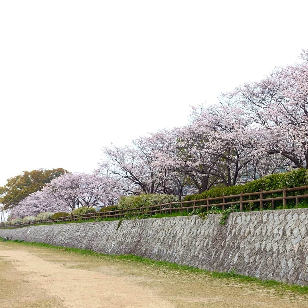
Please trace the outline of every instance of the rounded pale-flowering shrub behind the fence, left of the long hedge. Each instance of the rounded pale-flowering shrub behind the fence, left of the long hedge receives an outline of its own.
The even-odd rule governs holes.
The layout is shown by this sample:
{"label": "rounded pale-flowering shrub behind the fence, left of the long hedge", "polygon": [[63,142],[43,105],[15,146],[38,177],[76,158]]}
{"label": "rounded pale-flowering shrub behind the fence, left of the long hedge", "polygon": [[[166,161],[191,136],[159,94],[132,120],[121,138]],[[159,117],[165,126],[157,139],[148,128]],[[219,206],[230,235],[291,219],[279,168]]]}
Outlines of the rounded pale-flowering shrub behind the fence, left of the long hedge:
{"label": "rounded pale-flowering shrub behind the fence, left of the long hedge", "polygon": [[179,202],[179,198],[173,195],[159,195],[159,194],[141,194],[138,196],[121,197],[118,208],[132,209],[141,208],[142,206],[150,207],[153,205],[160,205],[169,202]]}

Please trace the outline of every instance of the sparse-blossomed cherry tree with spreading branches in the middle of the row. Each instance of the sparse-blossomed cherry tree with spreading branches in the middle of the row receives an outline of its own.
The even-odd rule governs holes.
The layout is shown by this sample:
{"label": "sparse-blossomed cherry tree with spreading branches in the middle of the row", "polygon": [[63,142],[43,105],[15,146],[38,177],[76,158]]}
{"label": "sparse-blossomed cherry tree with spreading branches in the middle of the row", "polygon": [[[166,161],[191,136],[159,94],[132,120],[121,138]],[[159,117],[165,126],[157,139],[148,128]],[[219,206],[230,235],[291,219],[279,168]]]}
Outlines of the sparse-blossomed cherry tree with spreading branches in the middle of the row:
{"label": "sparse-blossomed cherry tree with spreading branches in the middle of the row", "polygon": [[180,197],[188,176],[169,168],[173,157],[166,152],[173,151],[173,137],[161,130],[137,138],[126,147],[105,148],[108,160],[100,163],[99,172],[108,171],[108,176],[116,178],[123,194],[167,193]]}

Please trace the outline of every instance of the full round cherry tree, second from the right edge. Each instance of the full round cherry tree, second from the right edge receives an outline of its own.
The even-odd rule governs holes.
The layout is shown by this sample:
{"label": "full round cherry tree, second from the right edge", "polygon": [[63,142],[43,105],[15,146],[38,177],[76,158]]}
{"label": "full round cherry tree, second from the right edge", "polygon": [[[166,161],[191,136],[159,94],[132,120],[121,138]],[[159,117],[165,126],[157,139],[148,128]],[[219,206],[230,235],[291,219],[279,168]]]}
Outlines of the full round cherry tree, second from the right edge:
{"label": "full round cherry tree, second from the right edge", "polygon": [[264,157],[262,128],[253,127],[239,106],[195,107],[191,119],[177,144],[192,179],[204,176],[203,187],[196,185],[199,191],[220,183],[235,185],[248,165]]}

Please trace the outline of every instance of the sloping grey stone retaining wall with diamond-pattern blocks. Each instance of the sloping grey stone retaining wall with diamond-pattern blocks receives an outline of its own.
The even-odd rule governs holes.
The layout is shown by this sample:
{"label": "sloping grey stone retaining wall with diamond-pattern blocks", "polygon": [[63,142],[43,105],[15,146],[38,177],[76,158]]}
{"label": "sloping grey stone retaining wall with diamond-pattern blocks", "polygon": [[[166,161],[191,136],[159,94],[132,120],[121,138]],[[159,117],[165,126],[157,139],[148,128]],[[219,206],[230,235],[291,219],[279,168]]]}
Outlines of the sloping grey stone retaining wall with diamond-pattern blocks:
{"label": "sloping grey stone retaining wall with diamond-pattern blocks", "polygon": [[135,254],[201,269],[308,285],[308,208],[31,226],[0,237]]}

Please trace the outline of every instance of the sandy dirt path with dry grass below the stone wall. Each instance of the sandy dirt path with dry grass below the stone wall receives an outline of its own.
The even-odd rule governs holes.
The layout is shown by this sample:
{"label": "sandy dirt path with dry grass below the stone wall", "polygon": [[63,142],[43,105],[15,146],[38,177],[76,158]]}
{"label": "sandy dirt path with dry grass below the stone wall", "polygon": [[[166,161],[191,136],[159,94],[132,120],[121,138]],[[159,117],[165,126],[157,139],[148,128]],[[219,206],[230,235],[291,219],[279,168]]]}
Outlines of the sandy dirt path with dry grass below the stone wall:
{"label": "sandy dirt path with dry grass below the stone wall", "polygon": [[109,257],[0,242],[0,307],[306,307],[308,296]]}

